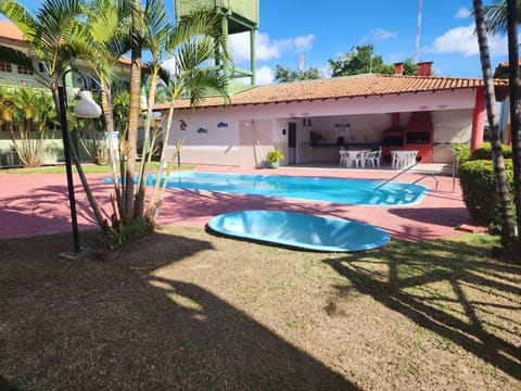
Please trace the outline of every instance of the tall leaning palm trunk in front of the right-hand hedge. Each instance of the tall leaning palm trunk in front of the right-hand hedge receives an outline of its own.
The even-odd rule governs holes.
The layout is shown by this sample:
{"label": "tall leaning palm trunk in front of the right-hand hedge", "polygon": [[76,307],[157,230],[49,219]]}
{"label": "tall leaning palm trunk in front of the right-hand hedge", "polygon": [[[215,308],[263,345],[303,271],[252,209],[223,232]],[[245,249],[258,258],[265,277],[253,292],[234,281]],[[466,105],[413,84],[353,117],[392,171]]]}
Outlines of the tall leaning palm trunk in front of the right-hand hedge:
{"label": "tall leaning palm trunk in front of the right-hand hedge", "polygon": [[473,0],[475,30],[480,46],[481,70],[483,73],[484,92],[486,100],[486,113],[491,127],[492,159],[494,163],[494,177],[496,180],[497,199],[501,217],[501,244],[510,247],[516,237],[513,213],[510,204],[510,193],[507,186],[505,162],[503,157],[499,124],[496,110],[496,96],[494,80],[492,78],[491,56],[486,38],[486,26],[483,18],[483,4],[481,0]]}

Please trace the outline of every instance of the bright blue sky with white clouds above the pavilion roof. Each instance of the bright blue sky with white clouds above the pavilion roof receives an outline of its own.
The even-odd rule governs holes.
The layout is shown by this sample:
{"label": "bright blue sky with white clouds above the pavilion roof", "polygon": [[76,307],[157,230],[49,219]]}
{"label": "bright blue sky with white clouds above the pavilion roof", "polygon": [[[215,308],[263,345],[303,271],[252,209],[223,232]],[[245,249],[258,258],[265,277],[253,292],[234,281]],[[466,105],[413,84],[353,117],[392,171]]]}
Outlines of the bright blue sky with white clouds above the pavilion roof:
{"label": "bright blue sky with white clouds above the pavilion roof", "polygon": [[[23,4],[38,8],[37,1]],[[484,4],[492,1],[483,1]],[[165,4],[173,14],[174,1]],[[419,61],[433,61],[439,76],[481,77],[472,2],[422,0]],[[272,80],[276,65],[316,67],[327,75],[328,60],[357,45],[372,43],[385,63],[415,58],[419,0],[289,1],[259,0],[256,37],[257,83]],[[249,67],[249,37],[237,35],[231,47],[236,63]],[[490,37],[492,66],[507,61],[506,37]]]}

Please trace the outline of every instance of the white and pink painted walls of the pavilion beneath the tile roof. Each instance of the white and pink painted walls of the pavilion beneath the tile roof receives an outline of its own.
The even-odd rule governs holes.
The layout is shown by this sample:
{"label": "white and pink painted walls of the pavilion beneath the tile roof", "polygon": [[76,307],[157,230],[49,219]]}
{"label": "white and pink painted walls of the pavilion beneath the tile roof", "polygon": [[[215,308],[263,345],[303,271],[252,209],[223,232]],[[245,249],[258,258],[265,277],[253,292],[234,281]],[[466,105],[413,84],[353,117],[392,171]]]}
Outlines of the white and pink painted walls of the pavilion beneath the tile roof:
{"label": "white and pink painted walls of the pavilion beneath the tile roof", "polygon": [[[309,147],[312,130],[322,134],[327,143],[335,143],[338,136],[344,136],[345,142],[374,143],[391,127],[391,113],[401,113],[404,127],[414,111],[432,112],[435,143],[466,142],[470,139],[474,101],[475,91],[469,89],[177,110],[167,151],[171,153],[171,146],[185,138],[181,163],[259,166],[274,147],[287,154],[288,123],[295,122],[296,162],[306,163],[314,160]],[[304,118],[312,119],[312,124],[304,125]],[[180,129],[180,119],[187,124],[185,130]],[[348,130],[335,126],[342,123],[350,124]]]}

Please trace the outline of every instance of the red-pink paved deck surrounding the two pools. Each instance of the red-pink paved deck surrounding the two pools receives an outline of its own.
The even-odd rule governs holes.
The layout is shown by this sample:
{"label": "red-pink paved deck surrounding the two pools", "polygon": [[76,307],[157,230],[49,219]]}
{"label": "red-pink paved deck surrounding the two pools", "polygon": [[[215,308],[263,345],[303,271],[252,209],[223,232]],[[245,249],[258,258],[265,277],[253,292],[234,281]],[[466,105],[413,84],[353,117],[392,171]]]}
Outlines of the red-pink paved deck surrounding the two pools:
{"label": "red-pink paved deck surrounding the two pools", "polygon": [[[230,166],[199,166],[198,171],[230,174],[298,175],[389,179],[393,171],[290,168],[244,169]],[[407,173],[397,180],[412,182],[421,174]],[[109,175],[88,175],[100,205],[109,216],[113,187],[101,182]],[[430,177],[420,184],[432,190],[421,203],[410,206],[363,206],[329,202],[275,199],[256,195],[214,193],[196,190],[167,190],[161,210],[160,225],[203,228],[215,215],[243,210],[275,210],[341,217],[371,224],[385,229],[393,239],[419,241],[461,235],[459,225],[469,224],[470,216],[461,199],[456,179],[436,175],[437,192]],[[74,176],[79,229],[96,227],[79,178]],[[0,172],[0,238],[16,238],[71,231],[67,182],[65,174],[2,174]]]}

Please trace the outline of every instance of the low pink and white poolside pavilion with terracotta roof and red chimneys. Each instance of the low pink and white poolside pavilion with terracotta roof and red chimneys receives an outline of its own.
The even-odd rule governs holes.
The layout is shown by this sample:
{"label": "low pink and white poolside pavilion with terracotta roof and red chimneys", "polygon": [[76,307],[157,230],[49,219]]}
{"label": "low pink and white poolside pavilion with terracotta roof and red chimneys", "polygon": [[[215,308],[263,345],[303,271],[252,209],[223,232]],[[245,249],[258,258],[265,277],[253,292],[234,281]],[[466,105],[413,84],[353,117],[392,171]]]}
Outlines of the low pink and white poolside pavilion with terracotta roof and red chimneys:
{"label": "low pink and white poolside pavilion with terracotta roof and red chimneys", "polygon": [[[431,76],[359,75],[245,88],[224,106],[221,97],[202,100],[195,110],[176,103],[166,148],[185,139],[182,163],[262,166],[272,148],[282,164],[338,162],[339,147],[415,149],[422,163],[450,163],[452,143],[472,149],[483,140],[483,80]],[[503,97],[507,80],[495,80]],[[165,111],[168,105],[157,105]]]}

